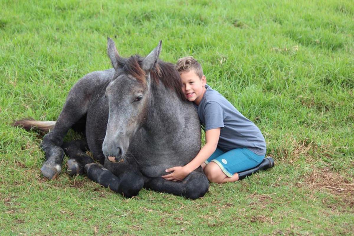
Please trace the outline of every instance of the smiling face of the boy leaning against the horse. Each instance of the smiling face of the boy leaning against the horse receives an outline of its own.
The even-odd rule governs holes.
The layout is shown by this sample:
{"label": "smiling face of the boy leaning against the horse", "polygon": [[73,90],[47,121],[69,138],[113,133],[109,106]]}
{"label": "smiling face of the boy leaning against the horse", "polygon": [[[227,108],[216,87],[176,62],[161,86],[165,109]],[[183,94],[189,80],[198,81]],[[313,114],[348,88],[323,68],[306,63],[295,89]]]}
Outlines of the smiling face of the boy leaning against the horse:
{"label": "smiling face of the boy leaning against the horse", "polygon": [[199,105],[205,93],[206,79],[205,76],[200,79],[194,70],[183,72],[181,74],[182,90],[188,101]]}

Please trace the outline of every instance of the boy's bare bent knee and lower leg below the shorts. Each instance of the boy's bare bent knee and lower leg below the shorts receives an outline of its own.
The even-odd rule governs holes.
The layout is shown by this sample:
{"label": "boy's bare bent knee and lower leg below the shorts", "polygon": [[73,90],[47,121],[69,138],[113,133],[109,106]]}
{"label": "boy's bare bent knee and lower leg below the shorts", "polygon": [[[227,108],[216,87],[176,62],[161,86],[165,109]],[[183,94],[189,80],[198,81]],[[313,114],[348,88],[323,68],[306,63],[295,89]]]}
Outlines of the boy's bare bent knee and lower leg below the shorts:
{"label": "boy's bare bent knee and lower leg below the shorts", "polygon": [[[205,163],[203,163],[205,165]],[[202,164],[202,167],[203,167]],[[206,177],[212,183],[235,182],[239,180],[239,175],[235,173],[232,177],[228,177],[215,162],[209,162],[204,168]]]}

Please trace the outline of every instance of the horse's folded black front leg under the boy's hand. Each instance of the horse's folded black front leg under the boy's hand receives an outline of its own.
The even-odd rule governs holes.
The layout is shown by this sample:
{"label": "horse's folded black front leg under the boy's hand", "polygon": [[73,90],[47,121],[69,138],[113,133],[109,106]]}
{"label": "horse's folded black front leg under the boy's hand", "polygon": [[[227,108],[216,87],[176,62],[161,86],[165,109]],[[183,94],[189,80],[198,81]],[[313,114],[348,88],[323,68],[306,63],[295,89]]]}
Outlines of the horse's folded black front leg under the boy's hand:
{"label": "horse's folded black front leg under the boy's hand", "polygon": [[209,189],[209,182],[203,172],[193,171],[179,182],[169,181],[161,177],[151,178],[145,183],[144,187],[158,192],[196,199],[205,195]]}

